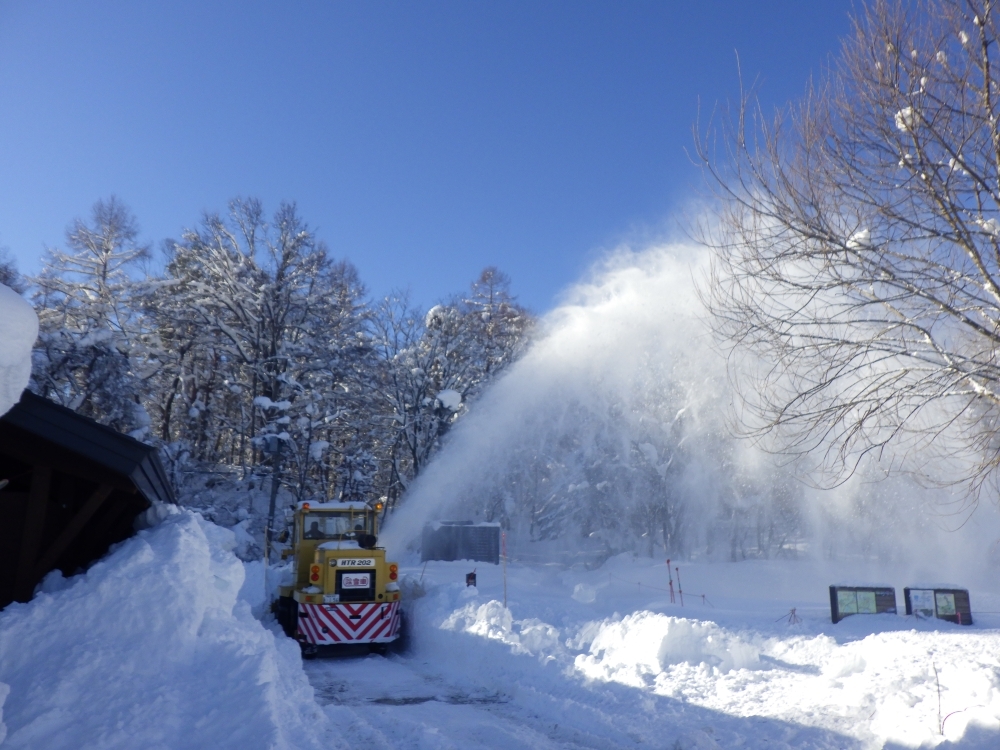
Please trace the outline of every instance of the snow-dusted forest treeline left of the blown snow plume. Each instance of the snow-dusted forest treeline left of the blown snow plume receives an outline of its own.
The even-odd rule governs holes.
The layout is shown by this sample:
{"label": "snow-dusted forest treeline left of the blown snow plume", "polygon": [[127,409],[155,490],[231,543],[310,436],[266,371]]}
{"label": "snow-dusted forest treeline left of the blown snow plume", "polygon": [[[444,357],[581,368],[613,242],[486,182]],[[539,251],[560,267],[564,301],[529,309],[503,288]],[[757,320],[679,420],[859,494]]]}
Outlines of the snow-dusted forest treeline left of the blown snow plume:
{"label": "snow-dusted forest treeline left of the blown snow plume", "polygon": [[112,197],[0,281],[38,312],[30,388],[157,445],[182,491],[270,476],[270,437],[296,498],[389,509],[532,326],[496,268],[429,311],[369,299],[294,204],[236,199],[163,253]]}

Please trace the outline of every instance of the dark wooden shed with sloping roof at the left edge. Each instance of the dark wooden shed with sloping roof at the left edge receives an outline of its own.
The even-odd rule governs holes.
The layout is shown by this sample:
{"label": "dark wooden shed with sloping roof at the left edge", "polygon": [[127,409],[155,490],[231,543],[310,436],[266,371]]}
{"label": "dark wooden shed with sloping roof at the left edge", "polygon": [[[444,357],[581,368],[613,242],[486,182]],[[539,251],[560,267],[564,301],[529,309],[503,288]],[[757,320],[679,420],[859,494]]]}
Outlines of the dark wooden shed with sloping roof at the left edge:
{"label": "dark wooden shed with sloping roof at the left edge", "polygon": [[156,449],[25,391],[0,417],[0,608],[71,575],[174,496]]}

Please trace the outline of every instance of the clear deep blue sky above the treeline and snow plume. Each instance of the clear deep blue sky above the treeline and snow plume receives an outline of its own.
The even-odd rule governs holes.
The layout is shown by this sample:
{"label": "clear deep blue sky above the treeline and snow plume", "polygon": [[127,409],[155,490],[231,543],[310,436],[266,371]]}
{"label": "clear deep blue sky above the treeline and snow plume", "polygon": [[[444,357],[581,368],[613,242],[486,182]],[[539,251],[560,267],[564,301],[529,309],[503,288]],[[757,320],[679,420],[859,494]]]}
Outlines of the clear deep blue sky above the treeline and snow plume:
{"label": "clear deep blue sky above the treeline and snow plume", "polygon": [[0,244],[24,272],[98,198],[159,244],[238,195],[294,200],[371,292],[497,265],[535,311],[704,192],[692,125],[796,98],[829,2],[0,0]]}

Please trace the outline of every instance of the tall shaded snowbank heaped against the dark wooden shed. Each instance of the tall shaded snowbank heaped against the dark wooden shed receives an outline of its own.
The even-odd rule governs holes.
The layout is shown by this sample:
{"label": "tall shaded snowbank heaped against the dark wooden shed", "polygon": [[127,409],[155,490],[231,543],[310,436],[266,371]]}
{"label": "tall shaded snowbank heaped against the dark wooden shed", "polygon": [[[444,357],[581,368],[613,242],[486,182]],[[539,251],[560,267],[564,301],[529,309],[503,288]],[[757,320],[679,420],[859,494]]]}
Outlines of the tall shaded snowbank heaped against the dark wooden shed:
{"label": "tall shaded snowbank heaped against the dark wooden shed", "polygon": [[4,750],[330,747],[297,645],[239,596],[234,544],[180,511],[0,612]]}

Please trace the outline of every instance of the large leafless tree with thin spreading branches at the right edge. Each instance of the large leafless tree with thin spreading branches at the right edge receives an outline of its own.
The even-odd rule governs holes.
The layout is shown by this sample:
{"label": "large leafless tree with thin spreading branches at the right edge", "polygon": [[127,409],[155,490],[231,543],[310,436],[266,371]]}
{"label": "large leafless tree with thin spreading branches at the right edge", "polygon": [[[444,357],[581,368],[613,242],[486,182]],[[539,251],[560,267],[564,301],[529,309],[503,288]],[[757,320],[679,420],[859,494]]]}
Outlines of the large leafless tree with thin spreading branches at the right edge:
{"label": "large leafless tree with thin spreading branches at the right edge", "polygon": [[889,448],[997,477],[998,38],[991,0],[876,0],[797,106],[699,138],[740,426],[826,482]]}

